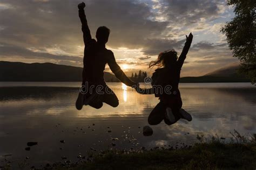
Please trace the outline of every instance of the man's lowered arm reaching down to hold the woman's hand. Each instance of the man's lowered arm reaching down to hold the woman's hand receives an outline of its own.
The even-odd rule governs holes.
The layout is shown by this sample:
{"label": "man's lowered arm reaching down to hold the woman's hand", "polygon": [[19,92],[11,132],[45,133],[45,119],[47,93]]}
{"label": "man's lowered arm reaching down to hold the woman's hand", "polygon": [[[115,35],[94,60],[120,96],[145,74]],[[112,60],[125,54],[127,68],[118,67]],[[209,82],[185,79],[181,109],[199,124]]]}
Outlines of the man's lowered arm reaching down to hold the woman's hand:
{"label": "man's lowered arm reaching down to hold the woman's hand", "polygon": [[123,72],[123,70],[118,66],[116,59],[114,59],[113,52],[109,51],[109,60],[107,61],[107,64],[109,65],[111,71],[116,75],[117,79],[119,79],[122,83],[126,84],[130,87],[136,87],[137,83],[131,81]]}

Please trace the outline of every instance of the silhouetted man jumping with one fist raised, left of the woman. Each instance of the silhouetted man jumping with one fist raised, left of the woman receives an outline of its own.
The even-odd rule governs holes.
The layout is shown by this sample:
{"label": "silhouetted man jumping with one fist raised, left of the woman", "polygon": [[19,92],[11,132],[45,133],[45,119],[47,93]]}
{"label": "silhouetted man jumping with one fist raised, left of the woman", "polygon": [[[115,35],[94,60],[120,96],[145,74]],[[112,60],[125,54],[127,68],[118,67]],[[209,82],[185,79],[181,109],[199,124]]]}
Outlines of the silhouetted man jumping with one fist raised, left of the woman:
{"label": "silhouetted man jumping with one fist raised, left of the woman", "polygon": [[[90,29],[87,25],[84,8],[84,2],[78,5],[85,45],[83,61],[83,86],[85,88],[83,88],[83,90],[91,87],[95,87],[95,90],[86,91],[86,94],[80,92],[77,98],[76,108],[80,110],[84,104],[89,104],[91,107],[99,109],[102,107],[103,102],[112,107],[117,107],[119,104],[118,98],[113,91],[107,87],[104,81],[104,69],[106,63],[109,65],[114,75],[127,86],[135,87],[138,83],[132,82],[124,74],[122,69],[118,66],[116,59],[114,59],[113,52],[106,49],[105,44],[108,41],[110,34],[110,30],[107,27],[100,26],[96,32],[97,41],[92,39]],[[97,86],[104,87],[100,93],[97,91]]]}

